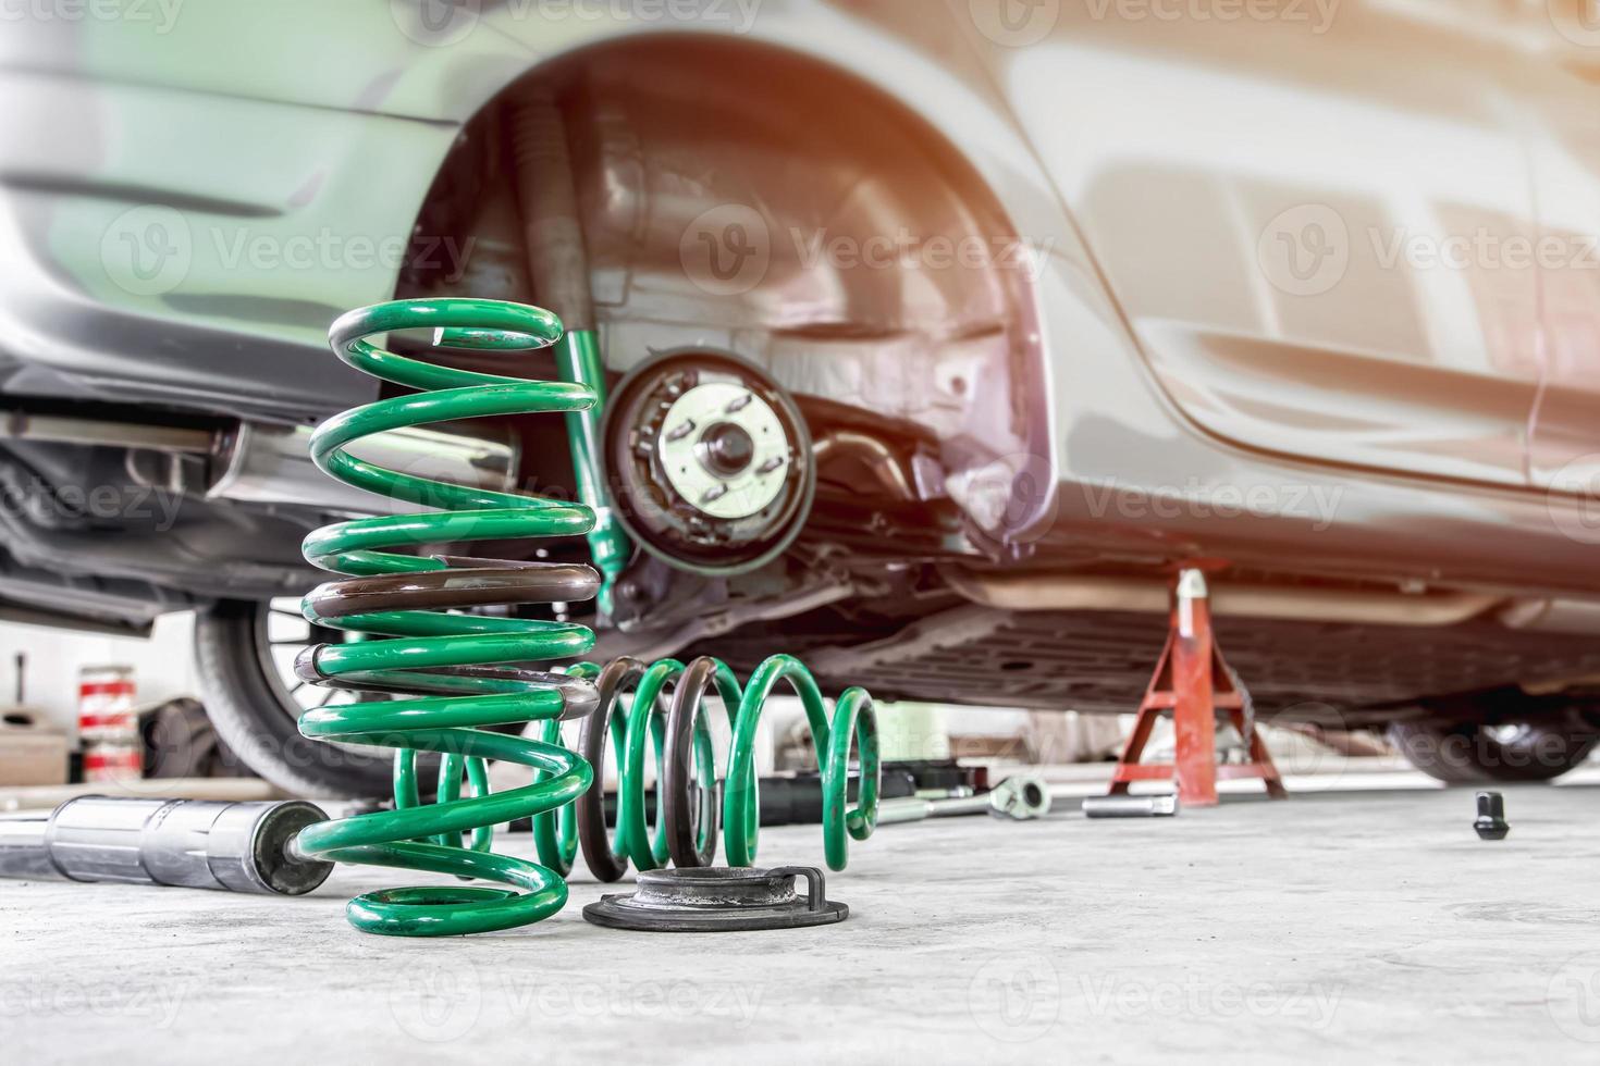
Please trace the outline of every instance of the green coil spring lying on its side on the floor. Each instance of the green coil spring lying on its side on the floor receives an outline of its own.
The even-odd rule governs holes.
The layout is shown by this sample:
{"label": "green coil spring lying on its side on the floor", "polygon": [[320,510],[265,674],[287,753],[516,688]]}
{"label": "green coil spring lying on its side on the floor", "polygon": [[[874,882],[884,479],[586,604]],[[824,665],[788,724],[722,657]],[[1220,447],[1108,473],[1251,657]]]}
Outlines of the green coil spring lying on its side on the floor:
{"label": "green coil spring lying on its side on the floor", "polygon": [[[715,692],[733,730],[726,772],[722,778],[720,821],[730,866],[755,863],[760,833],[760,794],[755,774],[755,740],[762,711],[779,684],[786,684],[805,708],[816,746],[822,785],[822,844],[827,865],[843,869],[850,839],[872,836],[878,817],[878,727],[866,689],[846,689],[829,718],[811,671],[794,655],[766,658],[746,684],[718,658],[701,657],[685,665],[662,658],[648,666],[618,658],[606,666],[579,663],[573,676],[595,681],[598,703],[584,721],[579,751],[602,766],[605,737],[618,767],[616,831],[606,836],[600,790],[579,799],[576,817],[584,861],[602,881],[616,881],[637,869],[710,866],[717,853],[718,778],[707,721],[706,697]],[[672,687],[670,708],[662,711],[664,690]],[[632,690],[627,710],[622,695]],[[859,759],[859,786],[850,805],[850,754]],[[654,831],[646,813],[646,756],[654,754]]]}

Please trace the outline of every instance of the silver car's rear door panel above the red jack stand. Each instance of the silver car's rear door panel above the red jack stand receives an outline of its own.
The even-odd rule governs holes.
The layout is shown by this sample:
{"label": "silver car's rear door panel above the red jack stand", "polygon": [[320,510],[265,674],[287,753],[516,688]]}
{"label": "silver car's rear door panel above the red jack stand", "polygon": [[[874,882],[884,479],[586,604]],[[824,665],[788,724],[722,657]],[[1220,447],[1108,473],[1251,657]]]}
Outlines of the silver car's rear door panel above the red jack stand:
{"label": "silver car's rear door panel above the red jack stand", "polygon": [[1538,284],[1477,254],[1534,237],[1515,53],[1379,0],[1117,10],[990,56],[1171,401],[1262,451],[1526,484]]}

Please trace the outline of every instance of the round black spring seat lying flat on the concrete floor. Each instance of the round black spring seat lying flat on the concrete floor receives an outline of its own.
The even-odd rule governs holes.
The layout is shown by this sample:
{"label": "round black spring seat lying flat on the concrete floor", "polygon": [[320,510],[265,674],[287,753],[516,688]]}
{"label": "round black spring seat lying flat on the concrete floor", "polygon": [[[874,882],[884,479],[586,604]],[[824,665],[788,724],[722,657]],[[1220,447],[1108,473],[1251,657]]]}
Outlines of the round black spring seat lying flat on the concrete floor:
{"label": "round black spring seat lying flat on the concrete floor", "polygon": [[[798,877],[806,882],[803,897],[795,892]],[[584,917],[595,925],[658,933],[800,929],[848,916],[848,906],[827,898],[822,871],[814,866],[645,871],[637,892],[608,895],[584,908]]]}

